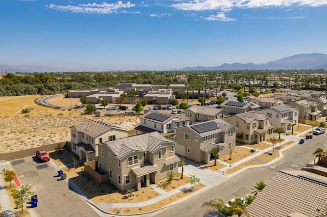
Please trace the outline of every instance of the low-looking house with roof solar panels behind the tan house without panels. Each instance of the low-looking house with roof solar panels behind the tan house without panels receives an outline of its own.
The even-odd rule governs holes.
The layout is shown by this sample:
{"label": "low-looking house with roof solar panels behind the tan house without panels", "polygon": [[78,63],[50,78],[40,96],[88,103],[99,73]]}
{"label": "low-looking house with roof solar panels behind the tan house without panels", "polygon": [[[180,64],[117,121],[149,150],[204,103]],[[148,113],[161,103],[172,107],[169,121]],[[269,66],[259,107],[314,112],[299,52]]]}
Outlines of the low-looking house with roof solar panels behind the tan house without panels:
{"label": "low-looking house with roof solar panels behind the tan house without panels", "polygon": [[224,101],[218,107],[229,112],[230,115],[235,115],[244,112],[258,111],[260,105],[255,104],[254,102]]}

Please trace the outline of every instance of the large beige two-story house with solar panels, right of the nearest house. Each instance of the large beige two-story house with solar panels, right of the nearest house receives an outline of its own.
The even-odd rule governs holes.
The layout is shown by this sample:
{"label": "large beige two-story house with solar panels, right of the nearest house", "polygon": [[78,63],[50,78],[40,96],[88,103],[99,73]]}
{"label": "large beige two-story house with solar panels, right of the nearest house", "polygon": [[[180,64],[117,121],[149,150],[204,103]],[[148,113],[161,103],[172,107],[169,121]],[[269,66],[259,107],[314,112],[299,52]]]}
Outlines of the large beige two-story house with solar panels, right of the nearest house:
{"label": "large beige two-story house with solar panels, right of the nearest house", "polygon": [[221,119],[206,121],[175,129],[176,153],[197,162],[208,163],[212,149],[219,157],[235,151],[235,127]]}

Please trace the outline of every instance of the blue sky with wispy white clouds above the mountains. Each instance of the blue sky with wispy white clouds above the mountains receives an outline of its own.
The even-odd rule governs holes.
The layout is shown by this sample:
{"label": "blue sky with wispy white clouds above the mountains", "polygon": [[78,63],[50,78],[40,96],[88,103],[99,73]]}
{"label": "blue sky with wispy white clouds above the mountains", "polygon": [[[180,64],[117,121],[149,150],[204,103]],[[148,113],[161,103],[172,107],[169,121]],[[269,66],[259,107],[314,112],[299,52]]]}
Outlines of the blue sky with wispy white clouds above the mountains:
{"label": "blue sky with wispy white clouds above the mountains", "polygon": [[0,64],[171,70],[327,54],[327,0],[0,0]]}

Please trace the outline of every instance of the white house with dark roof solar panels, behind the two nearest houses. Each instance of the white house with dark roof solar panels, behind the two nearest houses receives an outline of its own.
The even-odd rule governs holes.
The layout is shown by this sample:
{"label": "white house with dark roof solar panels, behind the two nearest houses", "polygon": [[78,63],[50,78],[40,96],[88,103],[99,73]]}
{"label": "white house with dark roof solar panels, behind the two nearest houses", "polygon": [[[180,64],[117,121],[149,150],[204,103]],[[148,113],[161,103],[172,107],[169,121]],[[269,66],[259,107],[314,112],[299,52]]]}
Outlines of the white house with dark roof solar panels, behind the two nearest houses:
{"label": "white house with dark roof solar panels, behind the two nearest houses", "polygon": [[139,125],[135,127],[136,134],[158,131],[173,133],[178,127],[190,125],[190,119],[184,115],[167,115],[157,112],[148,112],[139,117]]}

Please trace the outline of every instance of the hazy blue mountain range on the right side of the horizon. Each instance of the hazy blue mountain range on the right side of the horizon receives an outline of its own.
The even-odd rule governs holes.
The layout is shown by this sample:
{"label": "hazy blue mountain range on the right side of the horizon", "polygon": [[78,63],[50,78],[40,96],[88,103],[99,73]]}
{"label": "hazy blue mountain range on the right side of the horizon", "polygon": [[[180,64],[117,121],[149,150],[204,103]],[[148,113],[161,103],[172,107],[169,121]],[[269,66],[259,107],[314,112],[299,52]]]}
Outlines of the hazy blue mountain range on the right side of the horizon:
{"label": "hazy blue mountain range on the right side of the horizon", "polygon": [[196,70],[291,70],[291,69],[327,69],[327,55],[323,53],[302,53],[280,60],[270,61],[263,64],[254,63],[224,63],[214,67],[185,67],[180,71],[196,71]]}

